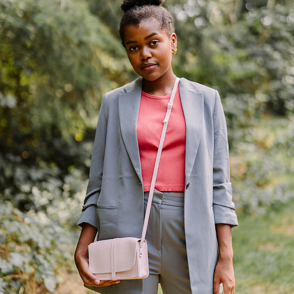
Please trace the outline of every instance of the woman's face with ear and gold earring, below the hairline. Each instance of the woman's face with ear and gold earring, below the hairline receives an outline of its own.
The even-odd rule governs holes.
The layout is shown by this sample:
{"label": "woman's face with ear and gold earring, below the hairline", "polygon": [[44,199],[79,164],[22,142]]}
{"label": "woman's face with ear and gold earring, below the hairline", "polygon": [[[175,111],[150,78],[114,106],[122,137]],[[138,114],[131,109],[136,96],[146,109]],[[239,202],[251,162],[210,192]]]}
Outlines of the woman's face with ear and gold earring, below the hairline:
{"label": "woman's face with ear and gold earring, below the hairline", "polygon": [[125,45],[132,67],[142,78],[155,81],[172,73],[171,50],[177,46],[177,36],[168,36],[155,19],[126,27]]}

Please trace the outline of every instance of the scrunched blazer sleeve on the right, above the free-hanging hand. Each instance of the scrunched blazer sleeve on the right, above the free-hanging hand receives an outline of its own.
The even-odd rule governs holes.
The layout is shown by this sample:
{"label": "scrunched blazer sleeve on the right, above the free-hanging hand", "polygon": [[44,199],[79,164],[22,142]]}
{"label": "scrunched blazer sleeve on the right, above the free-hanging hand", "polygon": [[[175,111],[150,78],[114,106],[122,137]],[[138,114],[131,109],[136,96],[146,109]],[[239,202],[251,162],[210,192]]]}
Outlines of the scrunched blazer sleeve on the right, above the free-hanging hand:
{"label": "scrunched blazer sleeve on the right, above the free-hanging hand", "polygon": [[213,212],[215,223],[237,226],[238,220],[232,202],[229,175],[227,129],[223,108],[217,91],[213,111]]}

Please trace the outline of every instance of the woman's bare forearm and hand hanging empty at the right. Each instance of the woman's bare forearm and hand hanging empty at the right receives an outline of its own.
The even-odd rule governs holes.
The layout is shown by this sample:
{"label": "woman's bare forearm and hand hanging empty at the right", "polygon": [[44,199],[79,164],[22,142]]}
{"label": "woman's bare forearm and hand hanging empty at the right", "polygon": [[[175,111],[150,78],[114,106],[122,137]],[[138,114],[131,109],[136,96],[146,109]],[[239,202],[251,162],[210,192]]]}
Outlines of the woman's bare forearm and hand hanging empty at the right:
{"label": "woman's bare forearm and hand hanging empty at the right", "polygon": [[223,284],[224,294],[235,293],[235,278],[233,270],[233,250],[231,242],[231,227],[228,224],[215,225],[218,243],[218,262],[214,270],[213,294],[219,293],[219,284]]}

